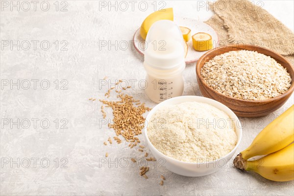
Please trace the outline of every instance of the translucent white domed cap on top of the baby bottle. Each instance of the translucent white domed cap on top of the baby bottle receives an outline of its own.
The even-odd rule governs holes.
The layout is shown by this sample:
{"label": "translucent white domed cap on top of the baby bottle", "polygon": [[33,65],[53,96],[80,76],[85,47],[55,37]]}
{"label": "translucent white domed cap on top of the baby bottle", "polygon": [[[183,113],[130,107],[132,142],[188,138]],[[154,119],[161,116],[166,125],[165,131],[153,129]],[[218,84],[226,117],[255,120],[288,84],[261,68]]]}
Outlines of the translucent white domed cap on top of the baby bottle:
{"label": "translucent white domed cap on top of the baby bottle", "polygon": [[186,66],[182,32],[170,20],[157,21],[151,25],[144,53],[144,63],[154,69],[171,70]]}

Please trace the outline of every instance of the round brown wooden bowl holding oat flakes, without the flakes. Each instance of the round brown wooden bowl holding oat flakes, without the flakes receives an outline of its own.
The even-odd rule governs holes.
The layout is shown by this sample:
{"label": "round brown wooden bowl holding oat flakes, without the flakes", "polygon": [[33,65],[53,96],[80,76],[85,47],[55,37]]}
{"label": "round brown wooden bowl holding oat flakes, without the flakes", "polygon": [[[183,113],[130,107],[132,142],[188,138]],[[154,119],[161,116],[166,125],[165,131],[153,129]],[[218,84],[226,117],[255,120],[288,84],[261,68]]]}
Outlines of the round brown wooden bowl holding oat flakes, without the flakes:
{"label": "round brown wooden bowl holding oat flakes, without the flakes", "polygon": [[[259,53],[270,56],[271,58],[275,59],[278,63],[280,63],[283,67],[287,68],[287,71],[288,73],[290,73],[290,76],[292,78],[289,90],[284,94],[274,98],[269,98],[265,100],[244,100],[225,96],[219,93],[218,91],[214,90],[210,86],[208,86],[204,81],[204,78],[200,74],[201,68],[204,66],[204,64],[217,55],[223,54],[228,51],[242,49],[257,51]],[[288,98],[290,98],[294,90],[294,70],[290,62],[287,61],[283,56],[272,50],[251,45],[230,45],[218,47],[206,52],[197,61],[196,75],[199,89],[204,97],[212,98],[223,103],[239,117],[260,117],[270,114],[271,112],[279,109],[288,100]]]}

